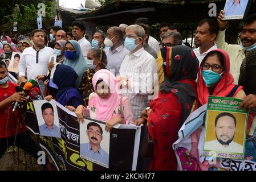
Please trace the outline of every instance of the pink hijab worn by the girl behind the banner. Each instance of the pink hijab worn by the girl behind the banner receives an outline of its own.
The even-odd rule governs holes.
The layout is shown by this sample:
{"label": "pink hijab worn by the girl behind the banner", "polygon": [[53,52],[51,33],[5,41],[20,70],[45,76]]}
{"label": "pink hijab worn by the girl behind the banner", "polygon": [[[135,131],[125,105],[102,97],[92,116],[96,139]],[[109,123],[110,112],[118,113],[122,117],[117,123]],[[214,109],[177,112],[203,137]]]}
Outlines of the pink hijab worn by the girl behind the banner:
{"label": "pink hijab worn by the girl behind the banner", "polygon": [[119,105],[117,80],[116,77],[107,69],[100,69],[94,74],[94,77],[92,77],[94,90],[96,89],[96,83],[99,80],[103,80],[108,85],[111,94],[105,99],[95,94],[93,102],[95,102],[96,107],[96,119],[99,119],[100,121],[108,121],[112,118],[113,111]]}

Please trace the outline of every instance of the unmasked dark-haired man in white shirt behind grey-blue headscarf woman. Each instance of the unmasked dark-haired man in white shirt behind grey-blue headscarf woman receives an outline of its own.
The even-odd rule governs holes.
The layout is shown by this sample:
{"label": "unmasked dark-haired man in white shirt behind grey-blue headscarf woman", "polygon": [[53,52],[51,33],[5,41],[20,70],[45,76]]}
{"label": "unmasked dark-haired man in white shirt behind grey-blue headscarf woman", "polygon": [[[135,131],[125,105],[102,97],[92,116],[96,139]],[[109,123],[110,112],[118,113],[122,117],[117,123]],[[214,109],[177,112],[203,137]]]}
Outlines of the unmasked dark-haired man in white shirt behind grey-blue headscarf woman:
{"label": "unmasked dark-haired man in white shirt behind grey-blue headscarf woman", "polygon": [[91,43],[84,38],[84,34],[86,34],[86,26],[84,26],[83,22],[76,21],[72,23],[72,27],[72,34],[80,44],[83,56],[86,58],[88,51],[92,48]]}

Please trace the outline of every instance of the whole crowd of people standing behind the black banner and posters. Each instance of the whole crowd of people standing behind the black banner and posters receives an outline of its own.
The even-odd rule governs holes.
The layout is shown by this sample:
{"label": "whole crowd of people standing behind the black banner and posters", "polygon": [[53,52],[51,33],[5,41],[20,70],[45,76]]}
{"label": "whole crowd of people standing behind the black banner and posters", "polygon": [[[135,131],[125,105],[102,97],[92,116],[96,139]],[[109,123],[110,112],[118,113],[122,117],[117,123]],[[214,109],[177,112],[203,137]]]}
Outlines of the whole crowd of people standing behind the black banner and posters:
{"label": "whole crowd of people standing behind the black banner and posters", "polygon": [[[18,82],[37,79],[46,100],[55,99],[74,111],[78,122],[84,117],[104,121],[106,131],[117,123],[144,124],[153,142],[153,156],[142,169],[176,170],[172,144],[178,130],[192,111],[207,104],[208,96],[240,98],[243,101],[239,107],[256,107],[256,14],[245,20],[240,45],[225,42],[228,22],[222,20],[224,17],[222,10],[217,19],[198,23],[194,49],[182,42],[176,27],[166,22],[160,24],[161,40],[157,41],[151,36],[147,18],[129,26],[109,27],[106,32],[96,30],[91,42],[85,37],[84,23],[79,21],[72,23],[72,32],[58,26],[51,27],[50,34],[36,29],[19,35],[17,44],[3,35],[0,158],[12,144],[38,158],[35,152],[39,147],[31,140],[23,119],[18,120],[22,118],[18,110],[16,119],[9,117],[12,103],[26,99],[15,92],[17,84],[7,76],[5,60],[19,52]],[[54,53],[56,63],[49,62]],[[57,63],[52,80],[57,87],[52,88],[47,74]],[[51,168],[48,161],[46,166]]]}

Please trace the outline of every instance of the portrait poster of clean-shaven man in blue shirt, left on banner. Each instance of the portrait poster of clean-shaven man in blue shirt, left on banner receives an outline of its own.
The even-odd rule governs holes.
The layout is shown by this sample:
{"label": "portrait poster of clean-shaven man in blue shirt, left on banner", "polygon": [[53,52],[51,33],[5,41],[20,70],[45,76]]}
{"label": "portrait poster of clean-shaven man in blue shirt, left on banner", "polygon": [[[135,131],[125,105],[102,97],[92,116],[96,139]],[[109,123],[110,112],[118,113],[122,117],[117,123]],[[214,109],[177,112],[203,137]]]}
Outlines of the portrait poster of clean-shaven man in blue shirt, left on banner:
{"label": "portrait poster of clean-shaven man in blue shirt, left on banner", "polygon": [[33,103],[40,135],[61,138],[56,101],[35,100]]}

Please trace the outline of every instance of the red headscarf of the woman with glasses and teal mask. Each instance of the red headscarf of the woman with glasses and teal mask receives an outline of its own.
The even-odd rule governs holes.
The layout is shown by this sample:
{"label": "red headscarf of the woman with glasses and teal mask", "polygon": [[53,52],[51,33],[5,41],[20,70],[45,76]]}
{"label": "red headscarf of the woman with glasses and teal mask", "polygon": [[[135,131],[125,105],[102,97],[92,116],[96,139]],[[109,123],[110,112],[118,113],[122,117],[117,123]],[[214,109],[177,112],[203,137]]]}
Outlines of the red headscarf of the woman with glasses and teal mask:
{"label": "red headscarf of the woman with glasses and teal mask", "polygon": [[[233,84],[234,78],[229,72],[229,70],[230,70],[229,55],[222,49],[214,49],[213,51],[218,51],[223,56],[223,58],[224,58],[224,73],[222,74],[221,80],[218,82],[212,95],[226,97],[231,92],[231,90],[234,88],[234,86],[236,86],[235,84]],[[212,51],[210,51],[210,52],[212,52]],[[206,59],[206,57],[207,57],[207,55],[205,56],[205,59]],[[198,71],[198,77],[197,77],[198,100],[200,101],[200,103],[202,105],[204,105],[208,102],[208,96],[209,96],[208,88],[205,85],[204,79],[202,78],[202,64],[204,64],[205,59],[202,60],[202,63],[200,64],[199,71]],[[236,92],[234,93],[234,96],[241,89],[242,89],[242,86],[239,86],[238,89],[236,90]]]}

